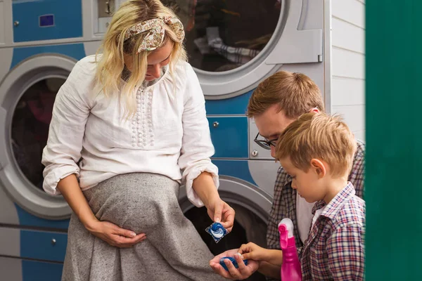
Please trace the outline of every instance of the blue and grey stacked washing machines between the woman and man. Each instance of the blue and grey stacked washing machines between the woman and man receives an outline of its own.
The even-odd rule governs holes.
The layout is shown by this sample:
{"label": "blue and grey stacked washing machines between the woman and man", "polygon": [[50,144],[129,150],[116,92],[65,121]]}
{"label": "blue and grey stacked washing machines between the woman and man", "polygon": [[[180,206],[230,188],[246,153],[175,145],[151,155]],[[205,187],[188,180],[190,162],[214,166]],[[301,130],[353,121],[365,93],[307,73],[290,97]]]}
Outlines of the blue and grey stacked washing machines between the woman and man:
{"label": "blue and grey stacked washing machines between the woman and man", "polygon": [[[203,92],[219,168],[219,194],[236,210],[232,233],[215,244],[203,228],[205,209],[181,207],[214,254],[245,242],[266,246],[267,222],[279,164],[245,116],[252,91],[280,70],[302,72],[321,89],[329,107],[330,1],[162,0],[179,15],[186,31],[189,63]],[[248,280],[264,280],[260,274]]]}

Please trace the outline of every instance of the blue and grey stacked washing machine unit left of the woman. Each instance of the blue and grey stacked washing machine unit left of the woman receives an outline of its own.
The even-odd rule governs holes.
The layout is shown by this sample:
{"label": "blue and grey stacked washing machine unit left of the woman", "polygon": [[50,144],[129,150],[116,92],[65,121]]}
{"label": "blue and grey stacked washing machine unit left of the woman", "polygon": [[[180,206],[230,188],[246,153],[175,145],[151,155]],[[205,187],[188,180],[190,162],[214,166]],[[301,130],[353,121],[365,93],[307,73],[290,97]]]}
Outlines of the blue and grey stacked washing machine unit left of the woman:
{"label": "blue and grey stacked washing machine unit left of the woman", "polygon": [[70,207],[42,190],[54,98],[96,53],[108,1],[0,0],[0,280],[60,280]]}

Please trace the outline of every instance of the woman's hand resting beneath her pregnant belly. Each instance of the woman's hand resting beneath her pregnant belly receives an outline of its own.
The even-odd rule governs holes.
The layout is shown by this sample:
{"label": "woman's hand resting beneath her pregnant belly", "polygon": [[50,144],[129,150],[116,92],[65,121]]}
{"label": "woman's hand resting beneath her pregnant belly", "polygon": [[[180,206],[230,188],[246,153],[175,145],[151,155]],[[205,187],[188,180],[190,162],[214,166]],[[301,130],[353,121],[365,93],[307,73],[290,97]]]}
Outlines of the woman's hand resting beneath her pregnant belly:
{"label": "woman's hand resting beneath her pregnant belly", "polygon": [[87,230],[111,246],[119,248],[129,248],[146,239],[145,233],[136,235],[133,231],[120,228],[108,221],[91,223],[87,226]]}

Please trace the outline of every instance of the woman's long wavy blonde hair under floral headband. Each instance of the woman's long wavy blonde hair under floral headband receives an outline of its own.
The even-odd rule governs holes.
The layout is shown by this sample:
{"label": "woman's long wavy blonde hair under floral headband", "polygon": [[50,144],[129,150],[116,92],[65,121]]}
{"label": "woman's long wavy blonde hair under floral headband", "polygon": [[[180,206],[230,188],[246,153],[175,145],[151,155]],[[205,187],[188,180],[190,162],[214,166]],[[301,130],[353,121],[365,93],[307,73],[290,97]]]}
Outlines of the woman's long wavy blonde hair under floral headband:
{"label": "woman's long wavy blonde hair under floral headband", "polygon": [[[139,45],[148,32],[142,32],[124,40],[124,34],[134,25],[161,17],[177,16],[170,8],[165,7],[159,0],[131,0],[124,2],[115,12],[103,39],[103,44],[96,53],[97,70],[95,84],[105,96],[113,96],[120,93],[120,97],[126,104],[125,116],[134,115],[136,111],[136,91],[142,86],[148,67],[147,57],[151,51],[138,53]],[[177,35],[169,25],[165,25],[165,37],[161,46],[168,41],[173,42],[173,50],[170,55],[170,74],[174,73],[174,65],[179,60],[186,61],[186,51],[183,43],[177,40]],[[160,46],[160,47],[161,47]],[[159,47],[159,48],[160,48]],[[101,56],[98,56],[102,53]],[[126,83],[122,83],[124,70],[124,55],[132,55],[132,73]]]}

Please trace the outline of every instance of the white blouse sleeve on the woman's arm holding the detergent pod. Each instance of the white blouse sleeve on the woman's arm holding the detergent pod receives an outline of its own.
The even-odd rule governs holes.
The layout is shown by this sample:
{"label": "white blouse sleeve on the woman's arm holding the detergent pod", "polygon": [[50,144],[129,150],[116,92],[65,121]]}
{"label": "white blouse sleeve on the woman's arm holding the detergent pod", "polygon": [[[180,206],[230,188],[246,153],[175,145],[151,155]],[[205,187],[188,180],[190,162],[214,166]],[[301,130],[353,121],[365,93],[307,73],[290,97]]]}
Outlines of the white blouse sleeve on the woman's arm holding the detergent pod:
{"label": "white blouse sleeve on the woman's arm holding the detergent pod", "polygon": [[205,98],[191,65],[186,66],[185,91],[186,100],[182,116],[184,133],[179,166],[183,171],[182,180],[186,185],[188,200],[196,207],[203,207],[203,202],[192,188],[193,180],[206,171],[212,175],[215,186],[218,188],[219,178],[218,168],[210,159],[215,150],[205,113]]}

